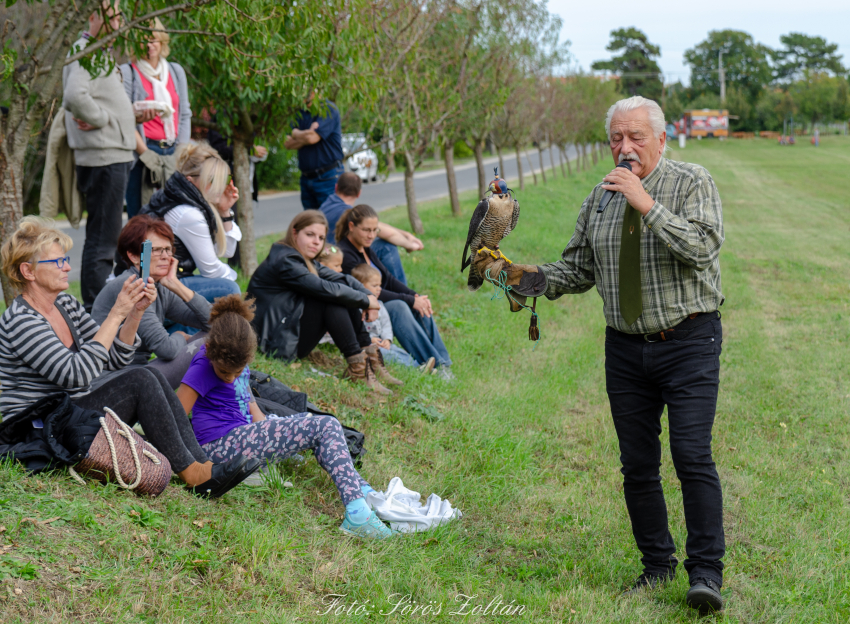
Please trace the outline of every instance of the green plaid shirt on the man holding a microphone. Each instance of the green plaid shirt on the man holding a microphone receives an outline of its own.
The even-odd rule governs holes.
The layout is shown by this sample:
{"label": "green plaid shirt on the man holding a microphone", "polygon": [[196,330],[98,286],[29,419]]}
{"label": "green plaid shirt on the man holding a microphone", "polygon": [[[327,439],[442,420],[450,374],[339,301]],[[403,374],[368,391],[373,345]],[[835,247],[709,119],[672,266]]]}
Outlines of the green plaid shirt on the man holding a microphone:
{"label": "green plaid shirt on the man holding a microphone", "polygon": [[724,299],[718,259],[723,211],[708,171],[662,157],[642,183],[655,205],[642,218],[643,313],[633,325],[620,314],[620,239],[627,205],[622,193],[598,214],[605,189],[601,184],[594,188],[561,259],[541,267],[547,298],[586,292],[595,284],[607,324],[629,334],[669,329],[694,312],[713,312]]}

